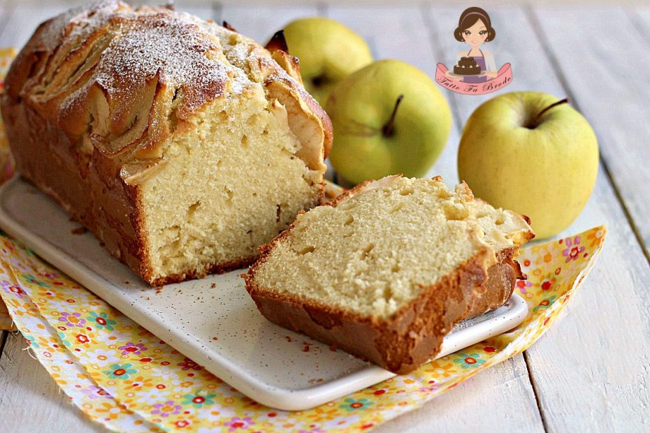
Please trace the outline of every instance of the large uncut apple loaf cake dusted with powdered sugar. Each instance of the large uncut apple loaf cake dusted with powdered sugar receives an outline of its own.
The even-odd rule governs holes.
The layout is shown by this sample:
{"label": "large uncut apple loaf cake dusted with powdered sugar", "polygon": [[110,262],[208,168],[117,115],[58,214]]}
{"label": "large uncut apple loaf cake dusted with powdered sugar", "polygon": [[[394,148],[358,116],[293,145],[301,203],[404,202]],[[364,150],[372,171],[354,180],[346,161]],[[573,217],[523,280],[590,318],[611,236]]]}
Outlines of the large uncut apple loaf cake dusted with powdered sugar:
{"label": "large uncut apple loaf cake dusted with powdered sugar", "polygon": [[36,29],[1,110],[20,174],[160,285],[251,263],[322,199],[331,122],[297,68],[211,21],[100,1]]}

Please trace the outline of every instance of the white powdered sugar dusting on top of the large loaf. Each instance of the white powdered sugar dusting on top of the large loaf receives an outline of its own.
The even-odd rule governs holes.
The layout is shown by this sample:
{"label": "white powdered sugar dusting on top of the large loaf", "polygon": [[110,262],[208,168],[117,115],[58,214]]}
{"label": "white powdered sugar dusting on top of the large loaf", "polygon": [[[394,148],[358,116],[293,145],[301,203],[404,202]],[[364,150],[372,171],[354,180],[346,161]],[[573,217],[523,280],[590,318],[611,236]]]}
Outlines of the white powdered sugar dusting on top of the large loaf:
{"label": "white powdered sugar dusting on top of the large loaf", "polygon": [[93,3],[50,20],[41,31],[41,46],[76,47],[106,29],[112,38],[92,77],[62,102],[62,109],[85,98],[94,83],[114,102],[130,103],[157,75],[161,84],[180,89],[183,112],[226,93],[239,94],[250,81],[224,61],[218,38],[198,21],[167,8],[133,10],[115,0]]}

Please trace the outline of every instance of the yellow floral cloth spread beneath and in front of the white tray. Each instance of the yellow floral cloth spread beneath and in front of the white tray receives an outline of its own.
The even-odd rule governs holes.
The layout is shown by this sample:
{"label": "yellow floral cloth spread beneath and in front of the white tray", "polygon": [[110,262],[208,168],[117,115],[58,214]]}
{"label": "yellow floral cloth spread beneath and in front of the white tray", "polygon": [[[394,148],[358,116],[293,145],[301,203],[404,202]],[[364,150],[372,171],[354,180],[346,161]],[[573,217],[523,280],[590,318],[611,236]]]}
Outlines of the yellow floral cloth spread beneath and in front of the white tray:
{"label": "yellow floral cloth spread beneath and in front of the white tray", "polygon": [[287,412],[240,394],[0,236],[0,298],[32,353],[92,420],[120,432],[363,432],[417,409],[517,355],[558,317],[602,248],[605,227],[537,244],[519,257],[528,302],[519,327],[315,409]]}

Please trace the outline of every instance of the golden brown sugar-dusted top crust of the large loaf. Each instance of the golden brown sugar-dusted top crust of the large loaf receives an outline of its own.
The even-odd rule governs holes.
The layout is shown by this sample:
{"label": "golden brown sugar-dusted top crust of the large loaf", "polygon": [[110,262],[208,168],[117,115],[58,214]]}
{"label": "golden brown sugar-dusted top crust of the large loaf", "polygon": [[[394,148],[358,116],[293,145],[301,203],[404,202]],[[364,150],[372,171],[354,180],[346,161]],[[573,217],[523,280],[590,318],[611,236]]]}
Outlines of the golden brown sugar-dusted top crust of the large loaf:
{"label": "golden brown sugar-dusted top crust of the large loaf", "polygon": [[[120,165],[152,163],[175,128],[203,105],[247,85],[239,66],[224,62],[227,34],[231,31],[217,24],[169,8],[92,3],[38,27],[8,71],[6,90],[73,140],[86,135],[89,145]],[[297,61],[286,59],[283,68],[244,39],[253,47],[250,53],[260,56],[265,88],[277,83],[295,92],[304,104],[302,115],[318,119],[324,135],[319,150],[326,156],[331,121],[291,78],[296,71],[300,76]]]}

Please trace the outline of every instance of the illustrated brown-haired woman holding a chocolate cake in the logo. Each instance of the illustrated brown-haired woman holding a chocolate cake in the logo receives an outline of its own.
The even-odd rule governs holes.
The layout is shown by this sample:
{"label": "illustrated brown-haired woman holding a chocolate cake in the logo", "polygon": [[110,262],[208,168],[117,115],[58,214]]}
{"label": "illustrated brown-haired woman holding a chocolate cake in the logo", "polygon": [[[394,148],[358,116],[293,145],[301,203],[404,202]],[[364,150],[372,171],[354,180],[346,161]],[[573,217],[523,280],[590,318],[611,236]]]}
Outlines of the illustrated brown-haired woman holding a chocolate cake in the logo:
{"label": "illustrated brown-haired woman holding a chocolate cake in the logo", "polygon": [[479,47],[483,43],[493,41],[496,31],[492,28],[490,16],[482,8],[467,8],[463,10],[458,19],[458,27],[454,30],[456,41],[470,45],[469,51],[458,53],[456,64],[461,57],[473,57],[477,65],[481,67],[479,75],[458,76],[447,73],[449,78],[467,83],[486,82],[497,76],[496,64],[491,52],[483,51]]}

